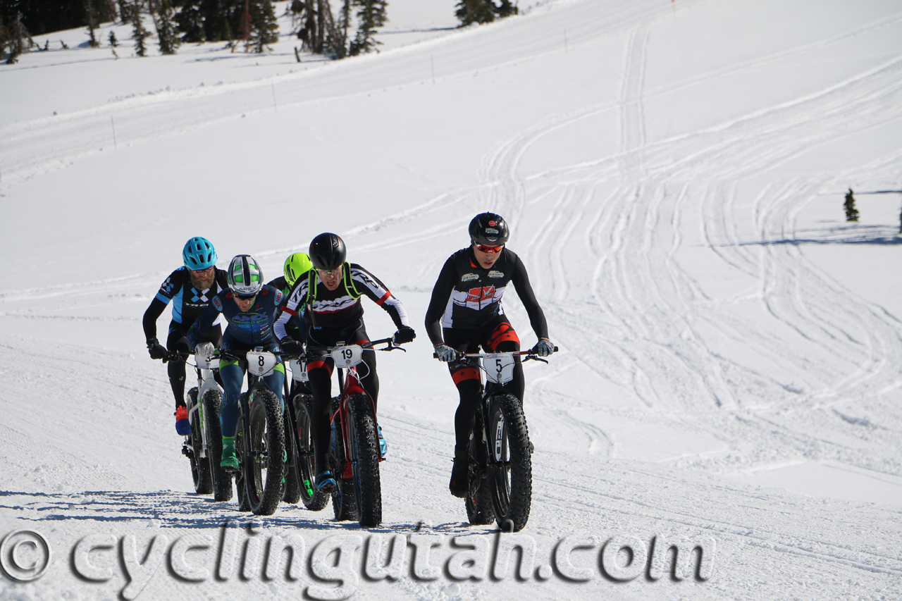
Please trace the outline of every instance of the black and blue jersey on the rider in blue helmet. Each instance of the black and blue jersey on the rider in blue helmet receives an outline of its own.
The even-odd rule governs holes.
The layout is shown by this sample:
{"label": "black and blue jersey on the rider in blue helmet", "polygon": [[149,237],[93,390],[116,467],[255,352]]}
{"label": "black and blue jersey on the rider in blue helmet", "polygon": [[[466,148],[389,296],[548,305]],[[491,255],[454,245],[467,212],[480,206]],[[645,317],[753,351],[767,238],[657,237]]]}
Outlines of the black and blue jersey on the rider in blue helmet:
{"label": "black and blue jersey on the rider in blue helmet", "polygon": [[187,329],[195,319],[198,319],[201,311],[207,308],[210,300],[227,288],[226,271],[223,269],[216,267],[216,278],[208,290],[198,290],[191,284],[188,268],[179,267],[162,282],[160,291],[144,311],[144,337],[148,339],[157,337],[157,319],[170,301],[172,301],[172,322]]}

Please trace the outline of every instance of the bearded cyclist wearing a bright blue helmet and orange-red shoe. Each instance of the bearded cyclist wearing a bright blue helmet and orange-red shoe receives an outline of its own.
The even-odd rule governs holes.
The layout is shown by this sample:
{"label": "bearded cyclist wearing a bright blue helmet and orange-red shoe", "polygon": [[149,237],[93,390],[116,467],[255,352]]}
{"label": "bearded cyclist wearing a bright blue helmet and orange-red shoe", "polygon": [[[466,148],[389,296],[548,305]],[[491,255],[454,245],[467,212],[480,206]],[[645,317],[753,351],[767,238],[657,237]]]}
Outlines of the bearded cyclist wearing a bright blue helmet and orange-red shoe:
{"label": "bearded cyclist wearing a bright blue helmet and orange-red shoe", "polygon": [[[147,350],[152,359],[163,359],[171,353],[179,353],[178,359],[170,360],[167,372],[175,396],[175,430],[185,436],[191,433],[188,410],[185,409],[185,357],[190,352],[188,328],[198,318],[219,291],[226,289],[226,272],[216,267],[216,249],[207,238],[191,238],[181,251],[184,266],[170,273],[144,311],[143,328],[147,339]],[[172,303],[172,320],[166,346],[157,340],[157,319],[166,305]],[[219,325],[203,330],[204,341],[218,347],[222,340]]]}

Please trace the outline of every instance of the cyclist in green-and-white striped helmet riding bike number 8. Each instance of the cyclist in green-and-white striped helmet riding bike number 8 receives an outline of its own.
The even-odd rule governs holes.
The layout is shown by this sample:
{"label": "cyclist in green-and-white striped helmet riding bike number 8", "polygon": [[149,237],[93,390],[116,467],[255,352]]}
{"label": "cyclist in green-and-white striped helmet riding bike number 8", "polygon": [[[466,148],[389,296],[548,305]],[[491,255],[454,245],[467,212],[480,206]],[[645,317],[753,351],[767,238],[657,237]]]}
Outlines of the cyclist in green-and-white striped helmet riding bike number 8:
{"label": "cyclist in green-and-white striped helmet riding bike number 8", "polygon": [[[272,337],[272,319],[282,301],[282,293],[263,284],[260,264],[250,254],[238,254],[228,266],[228,290],[219,292],[188,330],[188,342],[195,355],[212,356],[213,345],[204,342],[201,333],[220,315],[228,321],[223,334],[223,348],[247,352],[254,347],[279,353],[279,345]],[[219,376],[223,382],[223,402],[219,421],[223,430],[221,467],[238,468],[235,456],[235,427],[238,423],[238,398],[244,381],[244,367],[235,360],[220,359]],[[275,371],[263,378],[266,386],[282,402],[285,365],[279,361]]]}

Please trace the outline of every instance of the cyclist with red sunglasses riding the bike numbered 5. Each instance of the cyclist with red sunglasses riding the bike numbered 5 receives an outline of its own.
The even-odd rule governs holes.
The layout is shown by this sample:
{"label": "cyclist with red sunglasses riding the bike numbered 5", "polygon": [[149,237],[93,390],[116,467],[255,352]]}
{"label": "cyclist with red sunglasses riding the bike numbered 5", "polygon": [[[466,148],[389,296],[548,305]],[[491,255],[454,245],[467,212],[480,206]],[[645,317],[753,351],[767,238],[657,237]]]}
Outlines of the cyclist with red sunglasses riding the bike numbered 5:
{"label": "cyclist with red sunglasses riding the bike numbered 5", "polygon": [[[482,387],[479,372],[457,359],[458,353],[509,353],[520,350],[520,338],[504,314],[502,296],[513,283],[529,315],[529,323],[538,337],[535,349],[548,356],[554,345],[548,340],[545,314],[538,306],[529,284],[529,275],[520,257],[505,244],[510,229],[501,216],[481,213],[469,227],[470,246],[452,254],[432,289],[426,311],[426,331],[436,354],[448,363],[451,377],[460,394],[455,413],[455,458],[448,488],[452,495],[466,496],[467,444],[473,430],[476,407]],[[523,366],[515,357],[513,380],[507,385],[523,402]]]}

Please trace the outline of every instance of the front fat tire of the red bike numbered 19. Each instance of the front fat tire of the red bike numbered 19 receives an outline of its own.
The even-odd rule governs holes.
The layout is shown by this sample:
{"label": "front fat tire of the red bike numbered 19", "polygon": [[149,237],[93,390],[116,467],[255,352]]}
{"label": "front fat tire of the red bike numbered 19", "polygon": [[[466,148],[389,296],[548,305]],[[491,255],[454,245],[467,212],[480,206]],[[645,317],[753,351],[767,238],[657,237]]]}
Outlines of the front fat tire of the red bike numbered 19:
{"label": "front fat tire of the red bike numbered 19", "polygon": [[354,465],[354,497],[357,518],[364,528],[382,523],[382,484],[379,479],[379,437],[373,419],[373,403],[364,394],[348,399],[351,412],[351,457]]}

